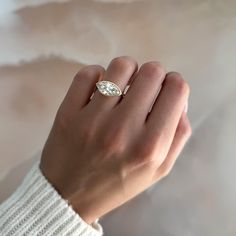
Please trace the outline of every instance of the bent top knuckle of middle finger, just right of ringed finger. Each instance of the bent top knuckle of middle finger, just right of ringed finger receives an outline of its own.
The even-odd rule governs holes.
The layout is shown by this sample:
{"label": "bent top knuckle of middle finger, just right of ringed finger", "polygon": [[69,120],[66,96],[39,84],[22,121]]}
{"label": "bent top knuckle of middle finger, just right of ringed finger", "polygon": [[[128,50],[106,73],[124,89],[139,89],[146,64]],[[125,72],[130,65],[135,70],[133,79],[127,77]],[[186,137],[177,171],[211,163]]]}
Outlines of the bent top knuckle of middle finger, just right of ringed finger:
{"label": "bent top knuckle of middle finger, just right of ringed finger", "polygon": [[150,78],[162,77],[165,75],[165,69],[159,62],[146,62],[140,70]]}

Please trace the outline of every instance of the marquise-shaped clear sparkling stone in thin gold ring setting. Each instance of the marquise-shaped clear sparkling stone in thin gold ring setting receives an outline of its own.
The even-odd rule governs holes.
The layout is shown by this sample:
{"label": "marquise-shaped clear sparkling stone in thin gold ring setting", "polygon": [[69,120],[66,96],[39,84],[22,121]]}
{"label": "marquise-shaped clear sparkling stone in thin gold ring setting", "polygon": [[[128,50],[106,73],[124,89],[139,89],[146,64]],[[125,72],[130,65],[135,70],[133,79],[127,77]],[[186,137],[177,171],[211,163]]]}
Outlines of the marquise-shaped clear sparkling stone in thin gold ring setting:
{"label": "marquise-shaped clear sparkling stone in thin gold ring setting", "polygon": [[98,91],[105,96],[121,96],[121,89],[115,83],[108,80],[101,80],[96,83]]}

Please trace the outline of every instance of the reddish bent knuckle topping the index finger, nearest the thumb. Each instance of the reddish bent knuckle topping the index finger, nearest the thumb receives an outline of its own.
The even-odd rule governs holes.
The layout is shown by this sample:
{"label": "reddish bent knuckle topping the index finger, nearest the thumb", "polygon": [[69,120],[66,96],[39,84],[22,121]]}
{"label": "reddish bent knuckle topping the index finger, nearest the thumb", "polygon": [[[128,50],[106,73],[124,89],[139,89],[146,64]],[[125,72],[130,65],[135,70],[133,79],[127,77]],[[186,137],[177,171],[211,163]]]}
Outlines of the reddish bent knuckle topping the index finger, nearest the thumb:
{"label": "reddish bent knuckle topping the index finger, nearest the thumb", "polygon": [[172,84],[180,94],[189,94],[190,87],[188,83],[183,80],[181,74],[177,72],[171,72],[168,74],[166,80],[166,82]]}

